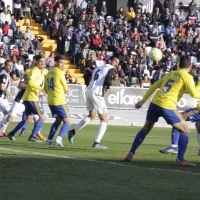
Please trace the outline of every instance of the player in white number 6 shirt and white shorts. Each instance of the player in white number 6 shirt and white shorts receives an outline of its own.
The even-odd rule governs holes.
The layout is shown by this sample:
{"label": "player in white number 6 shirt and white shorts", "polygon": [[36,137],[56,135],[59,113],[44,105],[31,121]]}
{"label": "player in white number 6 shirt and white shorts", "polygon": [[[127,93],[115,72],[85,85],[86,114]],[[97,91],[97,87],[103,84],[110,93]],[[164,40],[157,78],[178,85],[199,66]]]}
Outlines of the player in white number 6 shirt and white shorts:
{"label": "player in white number 6 shirt and white shorts", "polygon": [[83,118],[76,127],[68,132],[68,139],[73,143],[74,136],[81,128],[86,126],[96,117],[96,112],[99,115],[100,125],[97,136],[93,144],[93,148],[106,149],[107,147],[100,144],[107,128],[107,107],[104,99],[104,94],[107,94],[112,85],[112,78],[116,72],[116,67],[119,60],[116,57],[111,58],[110,64],[105,64],[97,67],[92,74],[92,79],[86,91],[87,110],[89,115]]}

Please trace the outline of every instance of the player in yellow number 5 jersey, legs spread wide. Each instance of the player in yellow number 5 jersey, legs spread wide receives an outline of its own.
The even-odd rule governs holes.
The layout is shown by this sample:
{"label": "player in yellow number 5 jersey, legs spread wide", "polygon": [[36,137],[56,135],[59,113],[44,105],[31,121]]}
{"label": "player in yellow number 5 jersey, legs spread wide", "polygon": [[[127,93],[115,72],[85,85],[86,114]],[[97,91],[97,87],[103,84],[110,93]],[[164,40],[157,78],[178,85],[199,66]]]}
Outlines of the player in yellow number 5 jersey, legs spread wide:
{"label": "player in yellow number 5 jersey, legs spread wide", "polygon": [[199,89],[195,88],[193,77],[188,74],[191,69],[191,57],[188,55],[181,56],[179,68],[179,70],[166,74],[154,83],[148,89],[143,99],[135,105],[139,109],[153,92],[160,88],[150,103],[144,127],[136,135],[132,147],[125,158],[126,161],[132,160],[136,149],[151,131],[158,118],[162,116],[168,124],[171,124],[181,133],[178,142],[176,166],[196,166],[184,159],[190,130],[182,115],[177,112],[176,105],[186,91],[194,98],[199,98],[200,93]]}

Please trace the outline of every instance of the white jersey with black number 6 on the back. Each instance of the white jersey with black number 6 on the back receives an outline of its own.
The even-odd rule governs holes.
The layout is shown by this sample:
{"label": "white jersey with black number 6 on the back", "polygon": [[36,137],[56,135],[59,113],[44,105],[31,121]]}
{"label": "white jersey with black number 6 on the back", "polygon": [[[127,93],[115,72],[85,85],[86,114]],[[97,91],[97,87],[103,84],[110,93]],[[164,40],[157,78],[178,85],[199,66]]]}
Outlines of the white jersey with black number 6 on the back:
{"label": "white jersey with black number 6 on the back", "polygon": [[88,89],[93,91],[95,95],[103,96],[104,81],[110,69],[114,67],[110,64],[105,64],[95,68],[92,73],[92,79],[88,85]]}

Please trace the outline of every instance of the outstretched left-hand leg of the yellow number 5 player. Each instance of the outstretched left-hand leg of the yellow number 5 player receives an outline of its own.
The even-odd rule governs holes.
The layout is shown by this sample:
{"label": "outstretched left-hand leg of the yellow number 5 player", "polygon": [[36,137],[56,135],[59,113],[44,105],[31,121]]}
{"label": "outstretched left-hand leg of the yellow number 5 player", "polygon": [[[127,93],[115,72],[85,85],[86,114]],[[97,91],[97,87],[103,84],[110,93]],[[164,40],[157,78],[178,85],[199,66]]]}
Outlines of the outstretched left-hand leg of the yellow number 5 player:
{"label": "outstretched left-hand leg of the yellow number 5 player", "polygon": [[132,147],[131,147],[129,153],[127,154],[127,156],[125,157],[126,161],[132,160],[137,148],[142,144],[142,142],[144,141],[147,134],[153,128],[155,122],[158,121],[158,118],[160,116],[162,116],[160,114],[159,109],[160,109],[159,106],[157,106],[153,103],[150,103],[150,106],[149,106],[148,111],[147,111],[146,122],[145,122],[143,128],[137,133],[135,140],[133,141]]}

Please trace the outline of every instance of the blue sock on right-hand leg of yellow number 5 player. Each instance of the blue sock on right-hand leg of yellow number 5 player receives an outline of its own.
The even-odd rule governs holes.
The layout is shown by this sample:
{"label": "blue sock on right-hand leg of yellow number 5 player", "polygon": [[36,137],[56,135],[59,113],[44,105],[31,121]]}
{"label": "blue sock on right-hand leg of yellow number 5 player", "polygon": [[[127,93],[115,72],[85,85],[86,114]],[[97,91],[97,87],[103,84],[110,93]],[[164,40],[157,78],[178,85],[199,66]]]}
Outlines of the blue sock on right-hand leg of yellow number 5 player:
{"label": "blue sock on right-hand leg of yellow number 5 player", "polygon": [[189,140],[188,133],[180,134],[179,141],[178,141],[178,157],[177,157],[177,159],[180,161],[184,160],[184,154],[187,149],[188,140]]}

